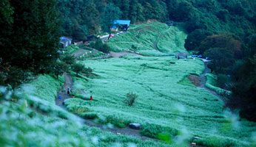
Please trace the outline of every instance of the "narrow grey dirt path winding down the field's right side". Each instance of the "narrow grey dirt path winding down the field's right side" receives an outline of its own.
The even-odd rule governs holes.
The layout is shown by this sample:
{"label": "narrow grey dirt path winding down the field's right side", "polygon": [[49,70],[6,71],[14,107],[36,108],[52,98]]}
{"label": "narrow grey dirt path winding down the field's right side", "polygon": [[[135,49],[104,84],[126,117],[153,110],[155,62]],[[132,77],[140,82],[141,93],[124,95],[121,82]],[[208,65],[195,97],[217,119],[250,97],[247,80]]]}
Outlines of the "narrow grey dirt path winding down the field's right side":
{"label": "narrow grey dirt path winding down the field's right side", "polygon": [[209,61],[203,60],[203,63],[204,63],[205,71],[200,75],[201,83],[199,87],[204,88],[205,90],[212,93],[214,96],[217,96],[220,99],[220,101],[223,101],[223,98],[220,95],[218,95],[214,90],[210,90],[208,87],[206,87],[206,73],[210,73],[211,70],[207,67],[207,64],[209,63]]}

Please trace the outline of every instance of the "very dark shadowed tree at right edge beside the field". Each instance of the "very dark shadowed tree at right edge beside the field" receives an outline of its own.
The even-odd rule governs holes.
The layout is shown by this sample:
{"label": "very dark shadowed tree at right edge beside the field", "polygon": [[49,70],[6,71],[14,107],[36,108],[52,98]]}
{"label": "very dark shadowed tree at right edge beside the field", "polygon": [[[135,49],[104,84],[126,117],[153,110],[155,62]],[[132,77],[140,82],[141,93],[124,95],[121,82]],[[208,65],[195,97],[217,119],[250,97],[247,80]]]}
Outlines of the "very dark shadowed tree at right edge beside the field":
{"label": "very dark shadowed tree at right edge beside the field", "polygon": [[240,116],[256,121],[256,54],[246,60],[240,70],[240,78],[232,88],[228,105],[240,109]]}

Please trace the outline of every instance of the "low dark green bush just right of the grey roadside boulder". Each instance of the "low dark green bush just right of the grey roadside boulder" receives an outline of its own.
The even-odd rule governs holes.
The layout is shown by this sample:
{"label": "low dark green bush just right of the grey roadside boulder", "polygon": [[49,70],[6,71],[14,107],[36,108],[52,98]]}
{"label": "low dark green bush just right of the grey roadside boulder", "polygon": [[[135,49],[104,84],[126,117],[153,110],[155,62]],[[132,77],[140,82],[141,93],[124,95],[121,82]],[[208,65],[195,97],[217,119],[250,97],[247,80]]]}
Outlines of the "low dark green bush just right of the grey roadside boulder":
{"label": "low dark green bush just right of the grey roadside boulder", "polygon": [[167,126],[160,126],[157,124],[146,124],[142,127],[143,129],[141,130],[141,135],[147,137],[158,138],[159,135],[162,134],[169,134],[171,137],[178,135],[177,129],[172,129]]}

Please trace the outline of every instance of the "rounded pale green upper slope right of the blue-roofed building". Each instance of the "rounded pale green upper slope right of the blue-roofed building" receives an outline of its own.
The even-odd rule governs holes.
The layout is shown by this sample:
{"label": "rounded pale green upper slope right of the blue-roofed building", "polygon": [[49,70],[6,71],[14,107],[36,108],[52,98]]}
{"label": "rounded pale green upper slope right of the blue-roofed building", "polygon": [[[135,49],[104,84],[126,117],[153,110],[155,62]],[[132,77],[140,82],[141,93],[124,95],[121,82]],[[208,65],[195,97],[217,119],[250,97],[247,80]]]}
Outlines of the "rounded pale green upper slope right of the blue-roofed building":
{"label": "rounded pale green upper slope right of the blue-roofed building", "polygon": [[[164,56],[175,54],[184,49],[186,34],[178,27],[170,27],[166,24],[154,22],[151,24],[131,25],[128,32],[109,40],[110,47],[114,51],[138,51],[146,56]],[[158,42],[158,50],[154,43]],[[132,46],[135,48],[132,49]]]}

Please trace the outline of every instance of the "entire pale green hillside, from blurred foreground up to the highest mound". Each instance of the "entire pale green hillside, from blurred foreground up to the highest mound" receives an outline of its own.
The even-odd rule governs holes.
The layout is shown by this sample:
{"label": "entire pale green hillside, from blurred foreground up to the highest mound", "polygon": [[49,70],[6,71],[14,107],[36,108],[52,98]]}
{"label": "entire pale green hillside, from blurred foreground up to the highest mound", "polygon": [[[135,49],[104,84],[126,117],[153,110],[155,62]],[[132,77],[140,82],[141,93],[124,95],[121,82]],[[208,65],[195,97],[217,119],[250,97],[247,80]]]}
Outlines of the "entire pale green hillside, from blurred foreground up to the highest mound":
{"label": "entire pale green hillside, from blurred foreground up to the highest mound", "polygon": [[[7,146],[176,147],[195,142],[210,147],[255,146],[256,123],[224,110],[220,98],[192,85],[187,78],[200,76],[205,66],[198,58],[175,59],[173,54],[186,52],[185,38],[186,34],[178,27],[158,22],[131,26],[129,32],[107,43],[116,51],[135,51],[147,57],[129,55],[80,61],[93,69],[94,76],[75,77],[75,73],[70,73],[75,98],[64,101],[64,109],[55,105],[57,93],[64,84],[63,76],[56,80],[54,76],[41,75],[21,86],[11,96],[18,98],[18,103],[5,101],[12,93],[1,87],[0,143]],[[214,81],[208,79],[206,84],[214,87]],[[87,94],[79,93],[85,90]],[[129,92],[138,95],[132,107],[125,101]],[[93,101],[88,101],[90,96]],[[141,135],[153,139],[141,140],[102,131],[85,125],[77,115],[96,118],[103,127],[112,126],[110,123],[117,128],[141,123]]]}

